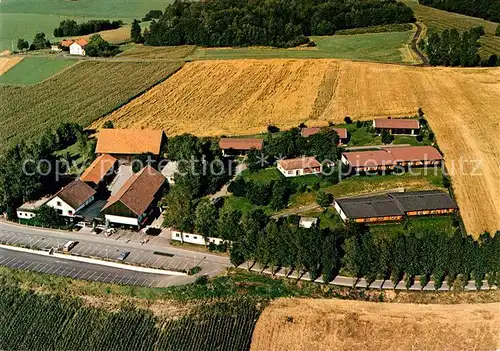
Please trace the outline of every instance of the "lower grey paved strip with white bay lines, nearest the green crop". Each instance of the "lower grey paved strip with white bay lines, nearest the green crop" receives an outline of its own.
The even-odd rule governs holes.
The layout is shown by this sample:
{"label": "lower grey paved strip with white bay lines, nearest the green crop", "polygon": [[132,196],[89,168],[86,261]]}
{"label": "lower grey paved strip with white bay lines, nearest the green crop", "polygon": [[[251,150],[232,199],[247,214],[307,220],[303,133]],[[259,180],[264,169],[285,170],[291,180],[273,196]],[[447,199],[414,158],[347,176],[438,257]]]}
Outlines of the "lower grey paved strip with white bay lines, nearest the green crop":
{"label": "lower grey paved strip with white bay lines, nearest the green crop", "polygon": [[161,274],[133,272],[125,269],[69,261],[3,248],[0,248],[0,265],[40,273],[57,274],[76,279],[146,287],[182,285],[190,283],[195,279],[192,276],[165,276]]}

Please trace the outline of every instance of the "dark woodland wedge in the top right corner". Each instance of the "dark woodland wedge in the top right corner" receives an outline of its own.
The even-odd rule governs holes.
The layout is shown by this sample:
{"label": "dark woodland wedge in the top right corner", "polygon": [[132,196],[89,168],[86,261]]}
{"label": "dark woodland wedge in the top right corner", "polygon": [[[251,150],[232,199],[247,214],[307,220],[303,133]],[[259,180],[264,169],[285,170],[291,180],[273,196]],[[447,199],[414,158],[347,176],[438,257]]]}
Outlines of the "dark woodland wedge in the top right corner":
{"label": "dark woodland wedge in the top right corner", "polygon": [[500,22],[500,0],[419,0],[422,5]]}

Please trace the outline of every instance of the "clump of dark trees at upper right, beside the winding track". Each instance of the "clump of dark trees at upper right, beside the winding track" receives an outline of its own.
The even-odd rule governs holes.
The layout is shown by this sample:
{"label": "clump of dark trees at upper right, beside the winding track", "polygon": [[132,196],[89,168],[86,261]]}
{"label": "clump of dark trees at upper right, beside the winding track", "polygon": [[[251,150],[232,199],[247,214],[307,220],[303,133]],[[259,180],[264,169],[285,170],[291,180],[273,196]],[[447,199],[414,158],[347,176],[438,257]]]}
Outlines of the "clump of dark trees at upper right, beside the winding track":
{"label": "clump of dark trees at upper right, beside the winding track", "polygon": [[444,30],[442,33],[432,33],[425,43],[425,50],[432,66],[496,66],[497,56],[491,55],[484,62],[479,56],[478,42],[484,35],[482,27],[459,33],[456,29]]}

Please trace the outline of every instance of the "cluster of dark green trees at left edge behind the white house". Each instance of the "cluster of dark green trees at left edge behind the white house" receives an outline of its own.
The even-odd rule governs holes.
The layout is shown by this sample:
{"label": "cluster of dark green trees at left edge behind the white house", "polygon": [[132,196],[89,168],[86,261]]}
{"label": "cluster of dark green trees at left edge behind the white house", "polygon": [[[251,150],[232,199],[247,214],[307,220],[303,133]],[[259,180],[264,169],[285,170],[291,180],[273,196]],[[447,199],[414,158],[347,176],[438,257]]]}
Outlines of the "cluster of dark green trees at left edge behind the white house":
{"label": "cluster of dark green trees at left edge behind the white house", "polygon": [[[15,218],[15,209],[25,201],[34,200],[58,190],[56,173],[69,156],[56,155],[69,145],[79,143],[84,159],[91,160],[95,144],[88,141],[83,128],[75,123],[62,123],[55,131],[47,130],[30,144],[20,143],[0,155],[0,212]],[[59,167],[58,167],[59,165]]]}

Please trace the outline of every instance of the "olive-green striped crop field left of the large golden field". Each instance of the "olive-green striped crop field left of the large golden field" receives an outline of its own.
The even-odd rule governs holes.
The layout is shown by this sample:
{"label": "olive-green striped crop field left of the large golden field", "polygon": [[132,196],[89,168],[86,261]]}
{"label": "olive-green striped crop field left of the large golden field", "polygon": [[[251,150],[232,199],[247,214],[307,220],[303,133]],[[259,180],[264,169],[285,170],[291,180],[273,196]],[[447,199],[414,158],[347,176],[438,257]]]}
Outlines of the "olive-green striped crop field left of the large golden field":
{"label": "olive-green striped crop field left of the large golden field", "polygon": [[181,66],[179,62],[160,61],[85,61],[40,84],[0,86],[2,146],[29,140],[62,121],[88,125]]}

